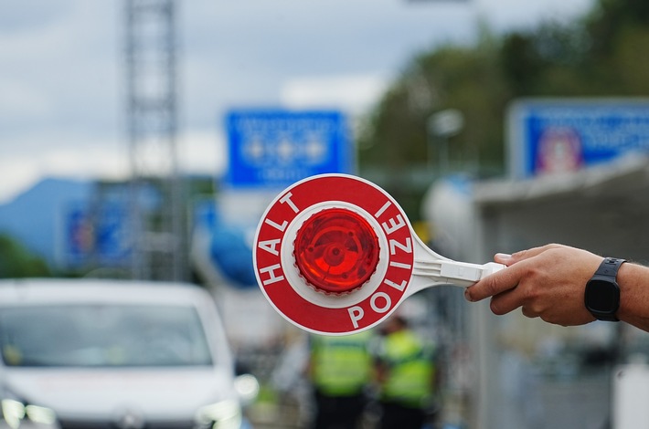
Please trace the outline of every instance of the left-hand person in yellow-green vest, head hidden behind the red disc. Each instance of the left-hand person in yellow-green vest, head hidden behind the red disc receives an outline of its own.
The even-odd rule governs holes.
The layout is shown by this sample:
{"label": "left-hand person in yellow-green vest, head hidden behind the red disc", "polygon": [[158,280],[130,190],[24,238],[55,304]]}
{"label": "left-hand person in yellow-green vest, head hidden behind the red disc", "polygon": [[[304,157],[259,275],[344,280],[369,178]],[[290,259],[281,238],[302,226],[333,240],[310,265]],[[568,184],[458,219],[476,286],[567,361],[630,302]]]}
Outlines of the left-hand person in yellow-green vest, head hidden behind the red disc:
{"label": "left-hand person in yellow-green vest, head hidden behind the red disc", "polygon": [[312,335],[309,376],[314,387],[315,429],[355,429],[372,380],[370,331],[340,337]]}

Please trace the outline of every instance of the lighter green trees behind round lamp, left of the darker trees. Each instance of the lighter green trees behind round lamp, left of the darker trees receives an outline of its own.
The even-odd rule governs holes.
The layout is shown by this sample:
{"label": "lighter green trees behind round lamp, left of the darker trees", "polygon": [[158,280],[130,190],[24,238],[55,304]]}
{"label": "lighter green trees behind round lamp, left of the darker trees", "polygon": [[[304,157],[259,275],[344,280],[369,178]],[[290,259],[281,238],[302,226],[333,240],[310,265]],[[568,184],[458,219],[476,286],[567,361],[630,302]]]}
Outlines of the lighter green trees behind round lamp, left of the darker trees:
{"label": "lighter green trees behind round lamp, left of the darker trees", "polygon": [[499,115],[509,92],[495,42],[485,32],[476,47],[447,45],[413,58],[360,133],[361,174],[392,194],[412,220],[419,219],[421,195],[440,174],[441,141],[428,131],[431,115],[463,113],[463,130],[448,142],[453,166],[502,171]]}

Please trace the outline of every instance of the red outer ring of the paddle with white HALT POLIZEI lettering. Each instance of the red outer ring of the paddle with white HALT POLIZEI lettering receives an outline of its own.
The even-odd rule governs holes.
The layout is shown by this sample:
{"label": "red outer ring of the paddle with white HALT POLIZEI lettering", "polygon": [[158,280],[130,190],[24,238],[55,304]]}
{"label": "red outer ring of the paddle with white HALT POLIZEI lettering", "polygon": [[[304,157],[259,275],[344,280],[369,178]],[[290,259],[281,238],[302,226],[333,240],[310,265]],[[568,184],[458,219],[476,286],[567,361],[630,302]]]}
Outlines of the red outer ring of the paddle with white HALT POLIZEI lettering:
{"label": "red outer ring of the paddle with white HALT POLIZEI lettering", "polygon": [[[320,306],[303,298],[289,284],[284,271],[294,269],[294,261],[282,261],[281,248],[288,245],[283,244],[288,225],[304,210],[328,201],[356,205],[368,215],[373,214],[382,228],[377,233],[385,235],[379,241],[388,243],[386,269],[380,281],[375,282],[376,290],[342,308]],[[307,330],[335,334],[374,326],[395,308],[410,282],[414,251],[406,214],[388,194],[353,176],[326,174],[296,183],[271,204],[257,232],[254,262],[262,291],[285,318]],[[370,282],[374,279],[370,278]]]}

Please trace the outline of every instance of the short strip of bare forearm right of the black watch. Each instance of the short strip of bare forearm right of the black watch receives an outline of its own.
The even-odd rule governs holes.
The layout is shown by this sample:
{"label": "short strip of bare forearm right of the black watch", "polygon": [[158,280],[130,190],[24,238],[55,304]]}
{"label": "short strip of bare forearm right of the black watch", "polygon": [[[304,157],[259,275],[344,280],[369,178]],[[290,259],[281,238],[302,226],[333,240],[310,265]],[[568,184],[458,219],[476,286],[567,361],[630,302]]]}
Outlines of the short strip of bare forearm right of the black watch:
{"label": "short strip of bare forearm right of the black watch", "polygon": [[622,264],[617,282],[620,285],[618,319],[649,331],[649,267]]}

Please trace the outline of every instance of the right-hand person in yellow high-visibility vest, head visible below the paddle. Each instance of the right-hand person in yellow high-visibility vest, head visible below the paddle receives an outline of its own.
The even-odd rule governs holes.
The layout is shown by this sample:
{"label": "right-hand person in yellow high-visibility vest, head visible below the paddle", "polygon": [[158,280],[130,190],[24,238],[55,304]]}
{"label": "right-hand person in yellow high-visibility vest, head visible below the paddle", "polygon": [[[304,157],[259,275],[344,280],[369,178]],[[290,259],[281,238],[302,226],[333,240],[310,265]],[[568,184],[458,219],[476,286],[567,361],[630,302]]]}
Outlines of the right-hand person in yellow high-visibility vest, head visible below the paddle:
{"label": "right-hand person in yellow high-visibility vest, head visible below the paddle", "polygon": [[375,363],[380,429],[420,429],[435,393],[434,350],[395,315],[384,322]]}

